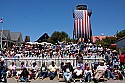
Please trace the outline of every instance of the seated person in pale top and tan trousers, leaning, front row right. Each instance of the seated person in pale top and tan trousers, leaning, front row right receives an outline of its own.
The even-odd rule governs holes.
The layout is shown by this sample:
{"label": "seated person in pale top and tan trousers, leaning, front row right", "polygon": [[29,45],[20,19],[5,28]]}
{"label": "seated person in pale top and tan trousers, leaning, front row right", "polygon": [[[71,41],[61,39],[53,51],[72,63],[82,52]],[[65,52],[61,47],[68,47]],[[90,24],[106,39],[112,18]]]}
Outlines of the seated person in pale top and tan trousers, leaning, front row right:
{"label": "seated person in pale top and tan trousers, leaning, front row right", "polygon": [[95,83],[98,83],[98,80],[105,74],[106,70],[107,70],[107,66],[104,64],[104,61],[101,60],[95,71],[96,74],[93,78],[93,81]]}

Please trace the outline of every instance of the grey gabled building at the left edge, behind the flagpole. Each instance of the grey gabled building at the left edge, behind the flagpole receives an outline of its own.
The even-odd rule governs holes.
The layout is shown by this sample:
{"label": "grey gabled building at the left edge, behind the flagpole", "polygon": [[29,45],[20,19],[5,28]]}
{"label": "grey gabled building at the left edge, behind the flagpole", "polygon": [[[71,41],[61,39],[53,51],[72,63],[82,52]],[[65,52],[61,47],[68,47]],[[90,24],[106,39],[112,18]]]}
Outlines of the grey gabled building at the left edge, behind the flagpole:
{"label": "grey gabled building at the left edge, behind the flagpole", "polygon": [[20,32],[10,32],[10,30],[0,30],[0,44],[1,47],[11,47],[12,44],[19,45],[23,42],[22,34]]}

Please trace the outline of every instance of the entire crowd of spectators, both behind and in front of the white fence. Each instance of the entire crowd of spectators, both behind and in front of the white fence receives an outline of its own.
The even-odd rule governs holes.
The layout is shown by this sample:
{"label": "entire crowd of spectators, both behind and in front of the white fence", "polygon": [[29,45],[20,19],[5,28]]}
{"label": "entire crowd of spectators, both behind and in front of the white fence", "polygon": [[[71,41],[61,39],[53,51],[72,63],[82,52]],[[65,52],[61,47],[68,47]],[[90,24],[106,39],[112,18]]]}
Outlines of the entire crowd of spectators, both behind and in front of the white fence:
{"label": "entire crowd of spectators, both behind and in front of the white fence", "polygon": [[[11,49],[7,50],[3,48],[0,51],[0,79],[4,78],[7,81],[7,77],[16,77],[20,81],[29,81],[31,79],[44,79],[49,77],[53,80],[56,75],[60,78],[60,75],[65,81],[75,82],[76,78],[90,82],[93,80],[95,83],[101,78],[120,79],[125,77],[125,53],[118,53],[114,49],[107,47],[103,48],[101,44],[96,45],[90,42],[78,44],[73,43],[60,43],[60,44],[29,44],[25,43],[21,46],[13,45]],[[102,57],[103,60],[98,62],[84,62],[84,58],[97,58]],[[47,65],[43,62],[39,68],[36,61],[32,61],[31,66],[27,68],[27,63],[21,61],[20,69],[16,69],[16,63],[12,61],[11,65],[6,66],[6,58],[74,58],[76,59],[76,67],[73,66],[71,60],[66,62],[60,62],[60,65],[56,65],[55,61],[51,62],[51,65]],[[1,80],[0,80],[1,81]]]}

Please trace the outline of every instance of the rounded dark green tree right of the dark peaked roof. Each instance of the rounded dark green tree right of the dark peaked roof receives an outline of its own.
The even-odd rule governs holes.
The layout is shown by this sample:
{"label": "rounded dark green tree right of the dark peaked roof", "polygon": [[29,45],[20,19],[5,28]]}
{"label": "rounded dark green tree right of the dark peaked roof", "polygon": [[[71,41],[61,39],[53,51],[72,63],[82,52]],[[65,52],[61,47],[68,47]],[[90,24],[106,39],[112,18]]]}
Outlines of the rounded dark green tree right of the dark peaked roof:
{"label": "rounded dark green tree right of the dark peaked roof", "polygon": [[51,37],[48,39],[49,42],[55,44],[58,43],[58,41],[71,41],[70,38],[68,37],[68,34],[64,31],[59,32],[55,31]]}

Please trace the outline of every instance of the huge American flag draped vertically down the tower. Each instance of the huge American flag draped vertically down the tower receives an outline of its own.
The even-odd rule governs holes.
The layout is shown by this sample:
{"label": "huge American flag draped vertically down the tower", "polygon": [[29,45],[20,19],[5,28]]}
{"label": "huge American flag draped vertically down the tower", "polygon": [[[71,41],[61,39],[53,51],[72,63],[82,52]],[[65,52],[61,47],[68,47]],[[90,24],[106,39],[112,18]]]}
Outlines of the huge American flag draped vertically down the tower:
{"label": "huge American flag draped vertically down the tower", "polygon": [[92,31],[87,10],[74,10],[74,35],[75,38],[91,40]]}

